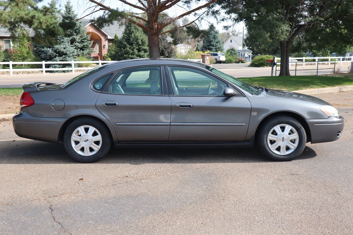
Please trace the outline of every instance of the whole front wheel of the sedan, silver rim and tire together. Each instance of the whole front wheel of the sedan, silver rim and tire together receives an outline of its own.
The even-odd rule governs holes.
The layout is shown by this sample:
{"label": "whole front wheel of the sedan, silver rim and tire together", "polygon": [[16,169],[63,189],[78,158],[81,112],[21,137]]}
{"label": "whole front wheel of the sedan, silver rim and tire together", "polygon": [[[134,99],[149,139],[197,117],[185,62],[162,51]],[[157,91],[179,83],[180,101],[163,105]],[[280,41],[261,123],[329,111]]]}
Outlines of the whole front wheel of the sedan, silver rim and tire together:
{"label": "whole front wheel of the sedan, silver rim and tire together", "polygon": [[290,161],[303,152],[306,133],[298,120],[290,116],[276,116],[260,128],[258,144],[270,159]]}

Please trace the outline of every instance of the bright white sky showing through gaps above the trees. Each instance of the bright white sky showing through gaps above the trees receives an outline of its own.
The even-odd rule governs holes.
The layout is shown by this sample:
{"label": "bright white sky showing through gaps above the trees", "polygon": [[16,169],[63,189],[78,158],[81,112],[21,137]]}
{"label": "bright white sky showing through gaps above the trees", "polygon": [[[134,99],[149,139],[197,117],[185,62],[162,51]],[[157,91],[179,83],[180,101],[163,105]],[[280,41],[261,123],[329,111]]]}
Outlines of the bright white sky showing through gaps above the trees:
{"label": "bright white sky showing through gaps above the trees", "polygon": [[[129,0],[130,1],[130,0]],[[133,2],[134,0],[130,1]],[[50,2],[50,0],[43,0],[40,4],[38,4],[39,6],[42,5],[47,5]],[[57,2],[57,7],[59,9],[64,9],[64,5],[66,3],[66,0],[56,0]],[[137,2],[137,1],[136,1]],[[197,5],[202,5],[202,2],[199,2]],[[74,11],[78,14],[78,17],[83,17],[86,14],[88,14],[89,12],[84,12],[89,6],[92,6],[88,0],[71,0],[71,4],[73,5]],[[119,7],[120,9],[125,9],[125,10],[129,10],[130,7],[126,7],[125,4],[123,4],[122,2],[119,2],[118,0],[106,0],[106,2],[104,2],[105,5],[110,6],[111,8],[116,8]],[[196,5],[194,5],[193,7],[196,7]],[[134,8],[131,8],[134,9]],[[169,14],[169,16],[177,16],[177,13],[181,14],[185,12],[185,10],[183,8],[180,7],[171,7],[167,10],[167,13]],[[100,12],[96,12],[93,16],[97,17],[99,16],[101,13]],[[85,17],[85,18],[91,18],[91,17]],[[195,17],[189,15],[187,16],[187,18],[189,20],[193,20],[195,19]],[[207,20],[203,20],[201,23],[201,28],[202,29],[207,29],[208,26],[210,25],[210,23],[213,23],[217,30],[219,30],[220,32],[224,32],[225,30],[223,29],[223,26],[227,26],[227,25],[233,25],[233,27],[235,29],[237,29],[238,31],[243,31],[243,27],[244,27],[244,23],[241,22],[237,25],[234,25],[232,22],[230,21],[226,21],[226,22],[221,22],[221,23],[217,23],[215,18],[207,18]],[[246,33],[246,29],[244,27],[244,32]]]}

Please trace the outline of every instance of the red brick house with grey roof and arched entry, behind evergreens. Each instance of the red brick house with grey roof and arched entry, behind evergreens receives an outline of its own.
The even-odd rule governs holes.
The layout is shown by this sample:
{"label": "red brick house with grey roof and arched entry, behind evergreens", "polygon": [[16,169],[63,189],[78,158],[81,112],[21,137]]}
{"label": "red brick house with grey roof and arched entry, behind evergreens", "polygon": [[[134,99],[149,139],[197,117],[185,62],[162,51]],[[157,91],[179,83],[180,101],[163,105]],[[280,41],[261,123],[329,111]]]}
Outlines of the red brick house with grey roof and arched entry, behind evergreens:
{"label": "red brick house with grey roof and arched entry, behind evergreens", "polygon": [[[60,15],[58,15],[60,17]],[[102,29],[98,28],[94,23],[90,22],[90,19],[81,19],[80,20],[83,26],[87,30],[87,34],[90,35],[91,40],[93,41],[92,48],[94,52],[91,54],[94,60],[104,60],[104,54],[107,53],[108,47],[112,44],[115,34],[120,38],[122,32],[125,29],[125,25],[120,25],[118,22],[114,24],[103,27]],[[27,29],[30,36],[34,36],[34,31]],[[12,40],[10,39],[10,33],[7,29],[0,27],[0,46],[1,49],[9,49],[13,46]]]}

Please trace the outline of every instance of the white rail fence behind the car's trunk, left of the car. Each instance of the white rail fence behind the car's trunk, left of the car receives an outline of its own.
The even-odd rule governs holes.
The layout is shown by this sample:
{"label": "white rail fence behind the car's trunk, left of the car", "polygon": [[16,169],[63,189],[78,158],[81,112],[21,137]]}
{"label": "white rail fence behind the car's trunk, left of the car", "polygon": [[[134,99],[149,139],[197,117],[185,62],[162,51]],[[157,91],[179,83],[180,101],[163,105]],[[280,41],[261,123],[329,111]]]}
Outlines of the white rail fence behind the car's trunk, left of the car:
{"label": "white rail fence behind the car's trunk, left of the car", "polygon": [[[58,71],[58,70],[71,70],[73,74],[75,74],[75,70],[89,70],[95,67],[75,67],[75,64],[107,64],[116,61],[109,61],[109,60],[98,60],[98,61],[42,61],[42,62],[0,62],[0,65],[8,65],[9,68],[0,69],[1,71],[10,72],[10,76],[13,75],[13,71],[42,71],[43,74],[46,71]],[[49,64],[71,64],[71,67],[66,68],[46,68],[46,65]],[[42,65],[41,68],[13,68],[13,65]]]}

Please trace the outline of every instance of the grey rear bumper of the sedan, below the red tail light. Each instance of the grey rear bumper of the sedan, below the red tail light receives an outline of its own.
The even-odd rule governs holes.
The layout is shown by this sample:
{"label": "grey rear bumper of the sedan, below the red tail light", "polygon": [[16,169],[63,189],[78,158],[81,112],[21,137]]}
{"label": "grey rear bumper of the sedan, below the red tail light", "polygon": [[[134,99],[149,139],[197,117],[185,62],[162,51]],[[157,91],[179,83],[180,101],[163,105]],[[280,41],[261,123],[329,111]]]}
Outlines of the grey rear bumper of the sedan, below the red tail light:
{"label": "grey rear bumper of the sedan, below the red tail light", "polygon": [[23,108],[13,116],[12,125],[19,137],[57,143],[60,128],[66,120],[67,118],[33,117]]}

